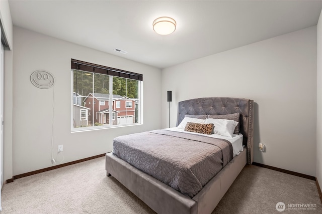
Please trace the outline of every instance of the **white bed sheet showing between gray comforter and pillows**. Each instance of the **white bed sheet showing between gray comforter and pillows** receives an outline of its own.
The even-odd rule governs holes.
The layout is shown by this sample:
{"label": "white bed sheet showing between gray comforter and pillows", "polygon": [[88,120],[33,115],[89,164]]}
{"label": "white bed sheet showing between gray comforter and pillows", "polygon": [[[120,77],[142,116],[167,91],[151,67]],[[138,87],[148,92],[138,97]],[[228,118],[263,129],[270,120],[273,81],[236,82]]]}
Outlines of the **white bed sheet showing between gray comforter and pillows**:
{"label": "white bed sheet showing between gray comforter and pillows", "polygon": [[170,130],[170,131],[177,131],[177,132],[186,132],[186,133],[190,133],[190,134],[199,134],[199,135],[204,135],[207,137],[213,137],[213,138],[219,138],[219,139],[225,139],[228,140],[231,145],[232,145],[232,151],[233,151],[233,156],[236,156],[238,154],[240,154],[241,151],[244,150],[243,147],[243,134],[233,134],[232,137],[227,137],[227,136],[223,136],[223,135],[219,135],[219,134],[200,134],[200,133],[195,133],[195,132],[189,132],[189,131],[185,131],[184,129],[180,129],[177,127],[173,127],[173,128],[166,128],[166,130]]}

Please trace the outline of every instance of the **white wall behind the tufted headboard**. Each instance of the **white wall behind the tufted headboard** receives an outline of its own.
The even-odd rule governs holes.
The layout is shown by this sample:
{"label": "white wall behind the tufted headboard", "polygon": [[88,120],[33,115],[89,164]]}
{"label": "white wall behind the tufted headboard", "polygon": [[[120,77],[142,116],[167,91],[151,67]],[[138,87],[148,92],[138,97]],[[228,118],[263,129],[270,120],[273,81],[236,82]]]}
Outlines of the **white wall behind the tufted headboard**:
{"label": "white wall behind the tufted headboard", "polygon": [[253,99],[254,161],[315,176],[316,27],[164,69],[163,128],[168,127],[167,90],[173,91],[171,126],[182,100]]}

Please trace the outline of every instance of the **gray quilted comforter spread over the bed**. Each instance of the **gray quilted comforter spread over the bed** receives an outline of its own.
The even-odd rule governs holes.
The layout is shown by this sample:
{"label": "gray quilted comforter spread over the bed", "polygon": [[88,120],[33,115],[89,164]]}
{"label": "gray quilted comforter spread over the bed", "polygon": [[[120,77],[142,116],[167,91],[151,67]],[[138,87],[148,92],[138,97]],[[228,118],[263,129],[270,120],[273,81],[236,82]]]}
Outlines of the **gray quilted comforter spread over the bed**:
{"label": "gray quilted comforter spread over the bed", "polygon": [[233,158],[227,140],[169,130],[116,137],[113,154],[190,197]]}

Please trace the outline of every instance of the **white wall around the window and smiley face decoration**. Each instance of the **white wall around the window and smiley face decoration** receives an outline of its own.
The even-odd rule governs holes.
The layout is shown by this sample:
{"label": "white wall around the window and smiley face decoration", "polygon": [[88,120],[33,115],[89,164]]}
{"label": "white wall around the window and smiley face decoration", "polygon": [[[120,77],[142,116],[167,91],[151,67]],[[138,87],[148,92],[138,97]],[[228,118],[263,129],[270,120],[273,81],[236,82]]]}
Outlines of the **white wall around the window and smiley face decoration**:
{"label": "white wall around the window and smiley face decoration", "polygon": [[[30,82],[36,70],[55,77],[54,149],[63,144],[65,162],[112,150],[119,135],[161,127],[161,71],[100,51],[14,27],[13,66],[13,173],[52,166],[51,133],[53,88],[39,89]],[[143,74],[144,124],[70,133],[70,59]],[[58,155],[57,161],[61,159]]]}

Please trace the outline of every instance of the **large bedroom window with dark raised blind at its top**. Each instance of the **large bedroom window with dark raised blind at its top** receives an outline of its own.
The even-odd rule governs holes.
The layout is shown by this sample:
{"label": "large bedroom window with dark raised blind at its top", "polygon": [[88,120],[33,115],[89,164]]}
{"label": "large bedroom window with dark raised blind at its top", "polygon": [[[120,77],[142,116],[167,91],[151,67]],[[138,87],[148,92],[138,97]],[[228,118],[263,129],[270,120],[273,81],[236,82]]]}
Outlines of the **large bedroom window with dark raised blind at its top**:
{"label": "large bedroom window with dark raised blind at its top", "polygon": [[71,60],[73,102],[79,101],[78,111],[85,108],[78,120],[88,120],[87,125],[77,125],[76,107],[72,108],[71,131],[140,124],[142,79],[141,74]]}

